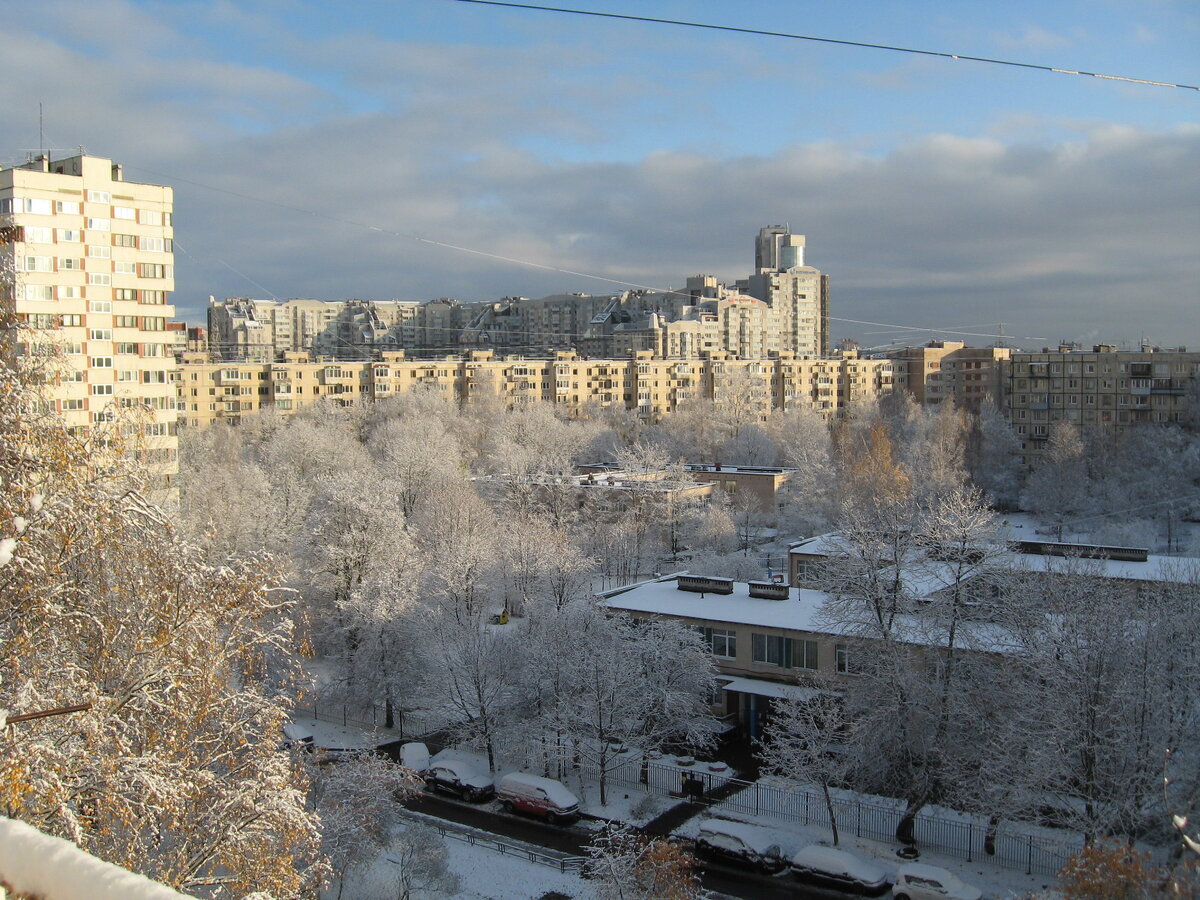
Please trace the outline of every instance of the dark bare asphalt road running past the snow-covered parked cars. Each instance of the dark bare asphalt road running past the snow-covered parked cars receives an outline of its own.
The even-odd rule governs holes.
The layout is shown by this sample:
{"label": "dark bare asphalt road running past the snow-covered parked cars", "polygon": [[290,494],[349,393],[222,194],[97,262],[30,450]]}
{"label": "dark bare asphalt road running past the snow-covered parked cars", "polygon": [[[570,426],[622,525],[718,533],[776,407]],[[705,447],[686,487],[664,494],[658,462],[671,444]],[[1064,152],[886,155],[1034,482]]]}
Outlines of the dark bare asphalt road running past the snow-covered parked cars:
{"label": "dark bare asphalt road running past the snow-covered parked cars", "polygon": [[[595,832],[578,826],[552,826],[500,812],[491,804],[473,805],[440,794],[421,793],[404,805],[415,812],[571,856],[586,856],[587,845],[595,836]],[[709,890],[746,900],[845,900],[847,896],[839,892],[802,887],[786,872],[766,876],[709,862],[702,863],[701,881]]]}

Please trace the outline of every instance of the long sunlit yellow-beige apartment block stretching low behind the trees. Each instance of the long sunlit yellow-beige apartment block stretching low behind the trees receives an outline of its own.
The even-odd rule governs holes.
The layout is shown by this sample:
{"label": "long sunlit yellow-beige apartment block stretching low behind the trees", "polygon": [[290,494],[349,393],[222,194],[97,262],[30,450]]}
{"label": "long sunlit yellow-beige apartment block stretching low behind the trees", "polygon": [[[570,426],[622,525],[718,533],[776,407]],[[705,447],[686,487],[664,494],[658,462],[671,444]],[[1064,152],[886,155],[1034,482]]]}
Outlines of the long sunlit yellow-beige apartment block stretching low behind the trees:
{"label": "long sunlit yellow-beige apartment block stretching low behind the trees", "polygon": [[803,360],[791,354],[664,360],[649,352],[626,359],[581,359],[570,352],[552,359],[497,359],[488,350],[414,360],[397,350],[373,361],[288,354],[281,362],[232,362],[185,353],[178,379],[181,421],[190,426],[236,422],[269,407],[287,415],[322,400],[350,406],[410,390],[440,391],[460,403],[491,398],[509,408],[558,403],[574,415],[617,407],[656,421],[689,401],[734,395],[749,395],[762,413],[805,407],[836,415],[889,391],[892,361],[853,353]]}

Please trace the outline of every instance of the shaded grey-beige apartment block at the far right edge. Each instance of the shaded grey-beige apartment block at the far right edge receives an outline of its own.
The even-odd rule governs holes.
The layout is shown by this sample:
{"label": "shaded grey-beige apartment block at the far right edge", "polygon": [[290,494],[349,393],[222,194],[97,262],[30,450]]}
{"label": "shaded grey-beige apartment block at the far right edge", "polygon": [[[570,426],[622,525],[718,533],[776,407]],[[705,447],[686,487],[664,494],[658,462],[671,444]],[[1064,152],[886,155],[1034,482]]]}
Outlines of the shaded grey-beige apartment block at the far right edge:
{"label": "shaded grey-beige apartment block at the far right edge", "polygon": [[1055,422],[1087,433],[1182,421],[1189,403],[1196,402],[1200,353],[1062,346],[1040,353],[1014,352],[1003,372],[1004,404],[1021,442],[1022,462],[1034,464]]}

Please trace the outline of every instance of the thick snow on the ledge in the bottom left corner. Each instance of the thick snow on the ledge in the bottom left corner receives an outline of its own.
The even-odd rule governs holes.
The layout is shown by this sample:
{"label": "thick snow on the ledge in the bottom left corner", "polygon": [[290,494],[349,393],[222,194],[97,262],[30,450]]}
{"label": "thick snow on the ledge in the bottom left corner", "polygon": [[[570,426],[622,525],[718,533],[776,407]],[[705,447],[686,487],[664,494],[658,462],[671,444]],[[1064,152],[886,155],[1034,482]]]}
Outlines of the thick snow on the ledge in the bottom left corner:
{"label": "thick snow on the ledge in the bottom left corner", "polygon": [[144,875],[106,863],[71,841],[0,816],[0,882],[43,900],[190,900]]}

